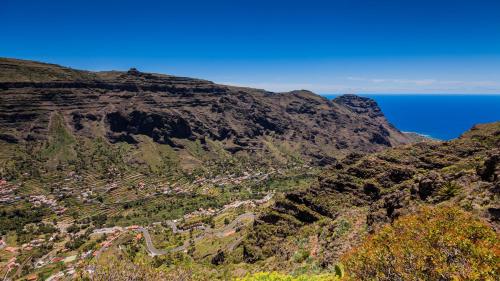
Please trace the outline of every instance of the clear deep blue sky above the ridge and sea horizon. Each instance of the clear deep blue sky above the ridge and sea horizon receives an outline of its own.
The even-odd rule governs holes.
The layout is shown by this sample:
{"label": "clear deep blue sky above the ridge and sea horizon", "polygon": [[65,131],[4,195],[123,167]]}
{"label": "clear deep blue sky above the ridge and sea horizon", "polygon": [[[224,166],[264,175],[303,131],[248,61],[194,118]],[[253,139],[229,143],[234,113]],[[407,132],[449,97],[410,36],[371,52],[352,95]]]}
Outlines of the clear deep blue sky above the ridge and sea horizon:
{"label": "clear deep blue sky above the ridge and sea horizon", "polygon": [[499,0],[0,0],[0,56],[275,91],[500,93]]}

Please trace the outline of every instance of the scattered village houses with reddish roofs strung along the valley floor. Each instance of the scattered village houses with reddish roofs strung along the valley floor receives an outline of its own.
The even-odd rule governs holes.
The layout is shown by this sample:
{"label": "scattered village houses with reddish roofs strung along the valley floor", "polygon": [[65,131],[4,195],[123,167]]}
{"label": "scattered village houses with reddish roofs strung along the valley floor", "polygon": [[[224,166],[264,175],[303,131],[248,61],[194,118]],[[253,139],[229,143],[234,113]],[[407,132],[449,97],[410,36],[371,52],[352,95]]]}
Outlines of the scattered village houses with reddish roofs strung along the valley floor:
{"label": "scattered village houses with reddish roofs strung along the valley floor", "polygon": [[[268,179],[272,174],[280,174],[280,170],[272,170],[268,173],[257,172],[249,173],[244,172],[242,175],[230,174],[227,176],[216,176],[214,178],[204,178],[198,177],[190,183],[164,183],[153,186],[151,183],[141,180],[137,177],[133,186],[136,190],[142,192],[141,194],[147,196],[174,196],[187,194],[193,191],[195,187],[206,188],[206,186],[224,187],[228,185],[241,185],[248,182],[261,182]],[[135,178],[134,178],[135,179]],[[77,175],[74,172],[68,174],[67,177],[62,179],[62,182],[53,184],[50,188],[50,195],[47,194],[29,194],[23,195],[17,192],[19,187],[23,185],[20,183],[9,183],[8,181],[2,179],[0,180],[0,206],[8,206],[14,204],[18,201],[25,201],[29,203],[34,208],[48,208],[56,216],[64,217],[63,221],[46,222],[47,225],[52,225],[54,227],[54,232],[51,234],[39,236],[34,238],[22,245],[16,245],[8,243],[5,237],[0,239],[0,273],[7,277],[11,276],[14,272],[19,272],[19,270],[25,266],[29,266],[30,260],[32,259],[30,253],[38,248],[47,248],[49,250],[46,254],[34,259],[31,263],[31,267],[34,269],[43,270],[46,267],[53,267],[54,265],[62,265],[62,270],[56,272],[55,274],[49,276],[45,280],[60,280],[64,278],[71,278],[77,272],[78,268],[85,263],[86,260],[98,257],[101,253],[106,251],[109,247],[114,245],[114,242],[126,233],[136,233],[136,240],[139,241],[143,238],[141,231],[147,231],[148,226],[131,225],[128,227],[112,226],[93,229],[89,236],[82,229],[77,232],[70,232],[69,228],[72,225],[70,217],[66,215],[68,208],[63,204],[61,205],[60,200],[72,196],[82,202],[82,204],[100,204],[96,199],[99,194],[109,194],[110,196],[114,192],[119,192],[122,188],[123,181],[111,181],[106,183],[103,187],[87,186],[86,188],[78,188],[84,183],[83,177]],[[57,187],[57,188],[54,188]],[[146,190],[151,190],[153,192],[146,192]],[[104,192],[104,193],[103,193]],[[228,204],[223,205],[221,208],[199,208],[190,213],[184,214],[181,218],[175,220],[167,220],[160,222],[153,222],[150,226],[154,225],[164,225],[169,227],[173,233],[187,233],[192,230],[210,230],[210,227],[204,225],[203,223],[191,224],[180,228],[179,223],[182,221],[189,221],[193,218],[203,218],[203,217],[214,217],[224,212],[228,212],[233,209],[240,207],[245,207],[246,209],[253,209],[259,205],[265,204],[272,199],[274,193],[268,193],[261,199],[252,200],[236,200]],[[102,196],[102,195],[101,195]],[[75,251],[67,249],[68,241],[76,241],[82,239],[82,237],[88,237],[93,241],[97,241],[97,245],[92,249],[85,251]],[[199,237],[199,239],[201,236]],[[147,244],[146,246],[148,246]],[[153,249],[148,249],[151,253]],[[28,255],[28,256],[26,256]],[[16,273],[17,274],[17,273]],[[8,280],[8,279],[5,279]],[[38,280],[37,275],[29,275],[27,280]]]}

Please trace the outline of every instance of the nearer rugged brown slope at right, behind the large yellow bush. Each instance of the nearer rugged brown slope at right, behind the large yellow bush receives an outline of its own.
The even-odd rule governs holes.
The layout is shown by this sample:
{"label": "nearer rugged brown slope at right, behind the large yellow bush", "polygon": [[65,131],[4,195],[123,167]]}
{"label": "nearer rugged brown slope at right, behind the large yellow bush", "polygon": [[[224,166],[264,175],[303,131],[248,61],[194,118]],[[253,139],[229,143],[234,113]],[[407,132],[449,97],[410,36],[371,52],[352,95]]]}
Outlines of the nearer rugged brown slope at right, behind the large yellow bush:
{"label": "nearer rugged brown slope at right, behind the large yellow bush", "polygon": [[306,251],[327,267],[367,233],[423,205],[458,206],[498,233],[499,195],[500,123],[477,125],[449,142],[351,154],[317,184],[276,199],[256,220],[243,256],[273,257],[276,267]]}

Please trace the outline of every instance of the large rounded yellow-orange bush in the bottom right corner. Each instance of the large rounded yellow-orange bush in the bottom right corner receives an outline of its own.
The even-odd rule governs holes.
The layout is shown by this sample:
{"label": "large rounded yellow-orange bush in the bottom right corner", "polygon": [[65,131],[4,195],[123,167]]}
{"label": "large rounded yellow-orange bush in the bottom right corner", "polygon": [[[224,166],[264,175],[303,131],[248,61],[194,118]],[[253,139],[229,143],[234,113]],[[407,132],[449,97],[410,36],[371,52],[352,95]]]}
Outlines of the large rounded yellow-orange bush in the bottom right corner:
{"label": "large rounded yellow-orange bush in the bottom right corner", "polygon": [[498,280],[500,240],[455,207],[426,207],[386,226],[344,260],[354,280]]}

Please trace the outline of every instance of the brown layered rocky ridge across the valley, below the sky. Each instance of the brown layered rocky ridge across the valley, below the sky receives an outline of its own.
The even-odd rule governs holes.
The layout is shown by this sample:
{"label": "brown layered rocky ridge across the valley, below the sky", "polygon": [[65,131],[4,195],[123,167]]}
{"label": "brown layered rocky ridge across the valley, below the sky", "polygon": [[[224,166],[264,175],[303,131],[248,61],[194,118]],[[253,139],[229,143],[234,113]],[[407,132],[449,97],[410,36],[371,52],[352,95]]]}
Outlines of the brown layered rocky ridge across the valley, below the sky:
{"label": "brown layered rocky ridge across the valley, below the sky", "polygon": [[182,149],[185,141],[222,143],[230,153],[288,143],[316,164],[351,151],[410,142],[370,99],[332,101],[308,91],[271,93],[209,81],[142,73],[88,72],[0,59],[0,139],[44,140],[54,114],[76,136],[135,144],[145,135]]}

